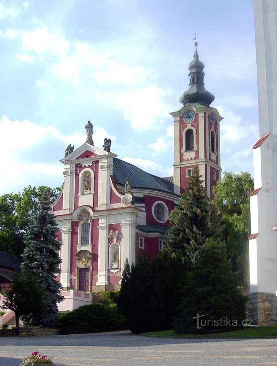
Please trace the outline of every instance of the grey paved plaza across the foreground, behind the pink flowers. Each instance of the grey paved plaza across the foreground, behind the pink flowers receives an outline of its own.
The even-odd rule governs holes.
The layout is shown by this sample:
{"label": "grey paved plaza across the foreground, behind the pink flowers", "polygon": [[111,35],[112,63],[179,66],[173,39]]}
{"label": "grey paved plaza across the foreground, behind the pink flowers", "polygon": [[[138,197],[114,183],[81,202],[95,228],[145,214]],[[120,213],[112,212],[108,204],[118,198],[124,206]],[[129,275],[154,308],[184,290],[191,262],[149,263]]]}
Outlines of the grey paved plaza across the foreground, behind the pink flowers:
{"label": "grey paved plaza across the foreground, behind the pink flowers", "polygon": [[19,366],[40,351],[63,366],[277,365],[277,339],[196,340],[152,338],[128,331],[0,338],[0,365]]}

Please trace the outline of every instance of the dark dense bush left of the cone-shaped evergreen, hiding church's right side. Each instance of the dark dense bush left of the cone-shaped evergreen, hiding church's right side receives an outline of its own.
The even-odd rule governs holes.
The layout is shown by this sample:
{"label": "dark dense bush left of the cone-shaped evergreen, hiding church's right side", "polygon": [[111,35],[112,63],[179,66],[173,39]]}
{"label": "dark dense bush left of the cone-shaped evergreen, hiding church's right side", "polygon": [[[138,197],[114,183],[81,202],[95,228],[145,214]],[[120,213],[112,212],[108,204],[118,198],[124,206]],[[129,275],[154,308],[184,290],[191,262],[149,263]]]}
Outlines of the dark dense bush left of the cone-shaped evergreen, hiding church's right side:
{"label": "dark dense bush left of the cone-shaped evergreen, hiding church's right side", "polygon": [[153,261],[141,256],[131,269],[125,262],[118,305],[132,333],[171,328],[186,275],[181,255],[166,249]]}

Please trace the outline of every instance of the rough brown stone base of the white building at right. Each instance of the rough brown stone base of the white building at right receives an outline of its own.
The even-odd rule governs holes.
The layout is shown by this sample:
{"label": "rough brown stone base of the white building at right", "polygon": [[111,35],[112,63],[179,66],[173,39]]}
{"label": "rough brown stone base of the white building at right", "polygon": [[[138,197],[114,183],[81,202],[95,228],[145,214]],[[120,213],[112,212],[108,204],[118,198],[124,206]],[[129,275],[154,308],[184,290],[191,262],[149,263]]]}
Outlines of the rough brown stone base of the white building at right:
{"label": "rough brown stone base of the white building at right", "polygon": [[267,292],[251,292],[248,294],[247,316],[253,320],[252,325],[269,326],[276,325],[274,294]]}

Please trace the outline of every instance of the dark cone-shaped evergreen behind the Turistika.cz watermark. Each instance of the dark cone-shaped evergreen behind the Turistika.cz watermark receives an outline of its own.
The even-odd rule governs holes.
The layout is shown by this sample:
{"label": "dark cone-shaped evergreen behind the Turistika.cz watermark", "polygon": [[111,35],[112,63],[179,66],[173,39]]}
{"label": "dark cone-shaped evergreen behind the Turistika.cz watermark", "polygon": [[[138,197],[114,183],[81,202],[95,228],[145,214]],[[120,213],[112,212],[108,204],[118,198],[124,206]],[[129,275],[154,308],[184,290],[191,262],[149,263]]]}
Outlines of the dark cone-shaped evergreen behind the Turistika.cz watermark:
{"label": "dark cone-shaped evergreen behind the Turistika.cz watermark", "polygon": [[[227,260],[225,246],[217,240],[209,239],[200,249],[199,259],[190,273],[183,295],[174,326],[176,333],[236,330],[246,318],[247,296],[240,291],[237,275],[232,272],[231,262]],[[196,319],[193,319],[197,314],[207,315],[199,319],[200,329],[197,329]],[[207,320],[210,322],[207,323]],[[215,323],[216,320],[219,324]],[[228,320],[231,323],[227,323]]]}

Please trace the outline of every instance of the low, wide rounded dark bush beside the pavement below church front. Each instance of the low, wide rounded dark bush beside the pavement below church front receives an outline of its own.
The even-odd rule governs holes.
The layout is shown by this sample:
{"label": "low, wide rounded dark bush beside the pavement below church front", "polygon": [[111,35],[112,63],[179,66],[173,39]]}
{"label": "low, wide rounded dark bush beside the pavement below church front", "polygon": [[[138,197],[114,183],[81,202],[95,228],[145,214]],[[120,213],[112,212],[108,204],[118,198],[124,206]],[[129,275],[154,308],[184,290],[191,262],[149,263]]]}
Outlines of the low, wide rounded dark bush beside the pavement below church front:
{"label": "low, wide rounded dark bush beside the pavement below church front", "polygon": [[112,332],[126,329],[126,320],[116,305],[93,303],[65,314],[55,324],[61,334]]}

